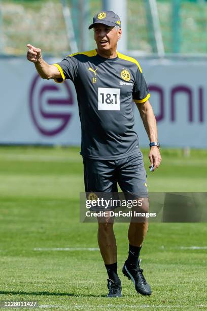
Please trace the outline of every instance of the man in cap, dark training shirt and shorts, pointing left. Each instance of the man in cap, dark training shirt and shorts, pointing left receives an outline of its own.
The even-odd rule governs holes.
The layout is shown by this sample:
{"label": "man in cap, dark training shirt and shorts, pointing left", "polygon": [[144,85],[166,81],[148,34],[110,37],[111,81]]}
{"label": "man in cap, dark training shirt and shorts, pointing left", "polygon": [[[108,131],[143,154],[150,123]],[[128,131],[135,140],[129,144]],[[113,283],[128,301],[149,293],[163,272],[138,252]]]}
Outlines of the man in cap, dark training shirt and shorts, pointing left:
{"label": "man in cap, dark training shirt and shorts, pointing left", "polygon": [[[84,164],[85,191],[117,192],[117,183],[124,193],[142,193],[143,210],[148,210],[146,171],[139,141],[133,131],[132,100],[140,111],[150,140],[150,167],[158,168],[161,157],[157,140],[156,120],[149,103],[149,91],[139,63],[117,52],[121,38],[121,21],[112,11],[102,11],[93,18],[97,48],[66,56],[60,63],[49,65],[41,49],[28,44],[27,59],[36,66],[43,79],[74,82],[81,120],[81,154]],[[123,274],[132,280],[135,289],[150,295],[151,288],[140,268],[140,250],[148,223],[131,220],[128,230],[129,253]],[[116,239],[113,222],[98,220],[98,245],[108,272],[108,297],[121,296],[117,273]]]}

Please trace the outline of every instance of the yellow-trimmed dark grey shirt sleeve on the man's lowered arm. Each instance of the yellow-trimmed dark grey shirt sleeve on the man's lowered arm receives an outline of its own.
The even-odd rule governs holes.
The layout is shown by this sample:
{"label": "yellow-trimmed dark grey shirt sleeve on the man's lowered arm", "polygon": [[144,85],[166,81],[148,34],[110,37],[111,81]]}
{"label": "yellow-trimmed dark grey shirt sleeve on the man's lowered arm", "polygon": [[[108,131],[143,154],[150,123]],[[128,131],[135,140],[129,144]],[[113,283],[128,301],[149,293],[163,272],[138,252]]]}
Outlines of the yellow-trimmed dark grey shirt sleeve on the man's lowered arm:
{"label": "yellow-trimmed dark grey shirt sleeve on the man's lowered arm", "polygon": [[137,68],[136,81],[132,92],[132,99],[135,103],[145,103],[150,97],[147,83],[143,73]]}

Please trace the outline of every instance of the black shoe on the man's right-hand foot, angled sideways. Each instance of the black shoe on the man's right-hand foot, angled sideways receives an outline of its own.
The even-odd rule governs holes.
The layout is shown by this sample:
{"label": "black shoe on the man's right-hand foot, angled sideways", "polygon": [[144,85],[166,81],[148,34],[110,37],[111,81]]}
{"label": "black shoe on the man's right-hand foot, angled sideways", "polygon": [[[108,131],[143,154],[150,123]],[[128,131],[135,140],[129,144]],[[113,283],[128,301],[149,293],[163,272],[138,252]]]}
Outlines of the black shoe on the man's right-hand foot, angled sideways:
{"label": "black shoe on the man's right-hand foot, angled sideways", "polygon": [[141,259],[139,260],[138,266],[135,266],[128,264],[126,260],[122,272],[124,276],[127,276],[128,279],[131,279],[137,293],[140,293],[142,295],[151,295],[152,294],[151,287],[147,283],[143,275],[143,269],[140,268],[140,262]]}

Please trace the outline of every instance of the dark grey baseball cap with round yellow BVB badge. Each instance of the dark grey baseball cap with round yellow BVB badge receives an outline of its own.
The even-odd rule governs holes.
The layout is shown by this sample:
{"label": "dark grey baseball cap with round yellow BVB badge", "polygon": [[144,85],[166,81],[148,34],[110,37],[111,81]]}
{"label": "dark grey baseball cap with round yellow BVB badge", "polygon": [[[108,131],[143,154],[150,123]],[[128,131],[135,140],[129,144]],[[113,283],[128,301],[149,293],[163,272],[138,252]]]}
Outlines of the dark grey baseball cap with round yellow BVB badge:
{"label": "dark grey baseball cap with round yellow BVB badge", "polygon": [[118,25],[121,27],[121,20],[113,11],[101,11],[100,13],[95,14],[93,17],[93,23],[88,27],[88,29],[93,28],[94,24],[98,23],[105,24],[107,26]]}

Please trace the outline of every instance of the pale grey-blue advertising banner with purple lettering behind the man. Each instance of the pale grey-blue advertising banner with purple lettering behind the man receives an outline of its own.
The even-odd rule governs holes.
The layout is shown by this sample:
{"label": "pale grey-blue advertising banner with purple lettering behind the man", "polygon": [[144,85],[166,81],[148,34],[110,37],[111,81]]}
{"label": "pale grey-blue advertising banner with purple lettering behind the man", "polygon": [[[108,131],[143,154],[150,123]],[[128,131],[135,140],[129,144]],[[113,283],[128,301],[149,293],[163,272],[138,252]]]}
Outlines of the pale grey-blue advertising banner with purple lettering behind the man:
{"label": "pale grey-blue advertising banner with purple lettering behind the man", "polygon": [[[47,59],[53,64],[57,59]],[[207,147],[207,64],[201,61],[141,60],[162,146]],[[0,143],[80,145],[74,85],[43,80],[24,58],[0,58]],[[140,145],[148,145],[134,104]]]}

